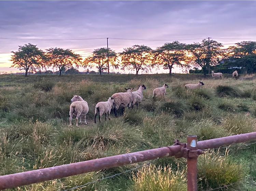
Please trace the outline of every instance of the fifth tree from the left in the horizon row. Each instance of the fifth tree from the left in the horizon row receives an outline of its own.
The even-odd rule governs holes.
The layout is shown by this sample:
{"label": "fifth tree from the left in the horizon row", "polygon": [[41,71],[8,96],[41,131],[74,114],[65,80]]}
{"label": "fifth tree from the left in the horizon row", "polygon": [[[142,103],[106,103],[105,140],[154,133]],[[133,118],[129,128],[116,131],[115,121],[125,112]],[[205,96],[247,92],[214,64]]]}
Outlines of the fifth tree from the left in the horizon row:
{"label": "fifth tree from the left in the horizon row", "polygon": [[169,75],[172,75],[174,65],[184,67],[181,61],[185,60],[185,44],[179,41],[165,43],[161,47],[157,47],[155,53],[155,64],[162,66],[163,69],[169,69]]}

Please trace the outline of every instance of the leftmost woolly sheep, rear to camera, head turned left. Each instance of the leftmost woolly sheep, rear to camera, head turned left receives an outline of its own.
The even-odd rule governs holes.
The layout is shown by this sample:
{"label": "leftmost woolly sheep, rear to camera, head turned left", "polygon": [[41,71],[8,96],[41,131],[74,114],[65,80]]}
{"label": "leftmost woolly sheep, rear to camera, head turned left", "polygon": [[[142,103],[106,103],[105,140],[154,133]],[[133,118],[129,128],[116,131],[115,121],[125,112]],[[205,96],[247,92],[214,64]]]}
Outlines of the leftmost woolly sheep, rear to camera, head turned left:
{"label": "leftmost woolly sheep, rear to camera, head turned left", "polygon": [[82,123],[81,121],[81,117],[84,117],[84,122],[85,124],[87,124],[86,122],[86,114],[89,111],[89,107],[88,107],[88,103],[86,101],[83,100],[83,98],[81,98],[81,96],[79,95],[74,95],[74,97],[71,99],[71,105],[69,107],[69,124],[70,126],[71,124],[71,120],[72,117],[75,115],[75,125],[78,126],[77,121],[78,118],[80,118],[80,123]]}

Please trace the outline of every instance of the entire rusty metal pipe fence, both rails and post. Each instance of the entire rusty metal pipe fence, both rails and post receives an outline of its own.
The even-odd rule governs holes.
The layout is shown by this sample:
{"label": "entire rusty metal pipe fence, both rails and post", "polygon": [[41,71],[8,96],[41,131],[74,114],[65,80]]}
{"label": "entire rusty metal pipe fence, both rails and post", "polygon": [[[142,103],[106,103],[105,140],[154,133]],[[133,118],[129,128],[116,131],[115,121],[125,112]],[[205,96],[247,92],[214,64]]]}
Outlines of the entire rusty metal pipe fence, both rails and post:
{"label": "entire rusty metal pipe fence, both rails and post", "polygon": [[127,153],[123,155],[0,176],[0,190],[119,167],[125,164],[175,156],[176,158],[187,158],[187,191],[197,191],[197,157],[200,154],[203,154],[202,150],[251,140],[256,140],[256,132],[198,142],[196,135],[188,135],[187,143],[181,143],[179,140],[175,140],[174,145],[158,149]]}

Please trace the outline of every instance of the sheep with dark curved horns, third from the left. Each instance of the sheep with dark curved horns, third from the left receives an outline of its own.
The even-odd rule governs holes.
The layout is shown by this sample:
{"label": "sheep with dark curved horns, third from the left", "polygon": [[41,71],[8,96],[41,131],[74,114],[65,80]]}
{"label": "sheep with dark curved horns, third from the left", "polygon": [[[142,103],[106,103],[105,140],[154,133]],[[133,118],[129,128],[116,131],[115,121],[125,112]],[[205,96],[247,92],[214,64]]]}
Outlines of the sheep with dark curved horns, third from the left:
{"label": "sheep with dark curved horns, third from the left", "polygon": [[125,108],[128,106],[128,108],[131,107],[131,102],[132,102],[132,89],[128,88],[127,92],[119,92],[119,93],[114,93],[111,97],[114,98],[113,102],[113,111],[115,114],[115,117],[117,117],[117,110],[119,107],[123,107],[123,113],[125,112]]}

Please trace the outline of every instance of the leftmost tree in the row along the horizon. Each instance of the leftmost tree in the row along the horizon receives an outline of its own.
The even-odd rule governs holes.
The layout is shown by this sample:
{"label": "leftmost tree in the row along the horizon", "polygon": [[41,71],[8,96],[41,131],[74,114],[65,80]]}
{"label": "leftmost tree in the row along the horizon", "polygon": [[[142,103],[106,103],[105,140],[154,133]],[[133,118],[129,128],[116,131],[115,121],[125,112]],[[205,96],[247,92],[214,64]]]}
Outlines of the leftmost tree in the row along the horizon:
{"label": "leftmost tree in the row along the horizon", "polygon": [[44,62],[44,52],[37,48],[37,45],[25,44],[24,46],[19,46],[18,51],[12,51],[10,61],[12,61],[12,67],[18,68],[20,70],[25,70],[25,76],[28,76],[28,71],[35,71],[43,67]]}

